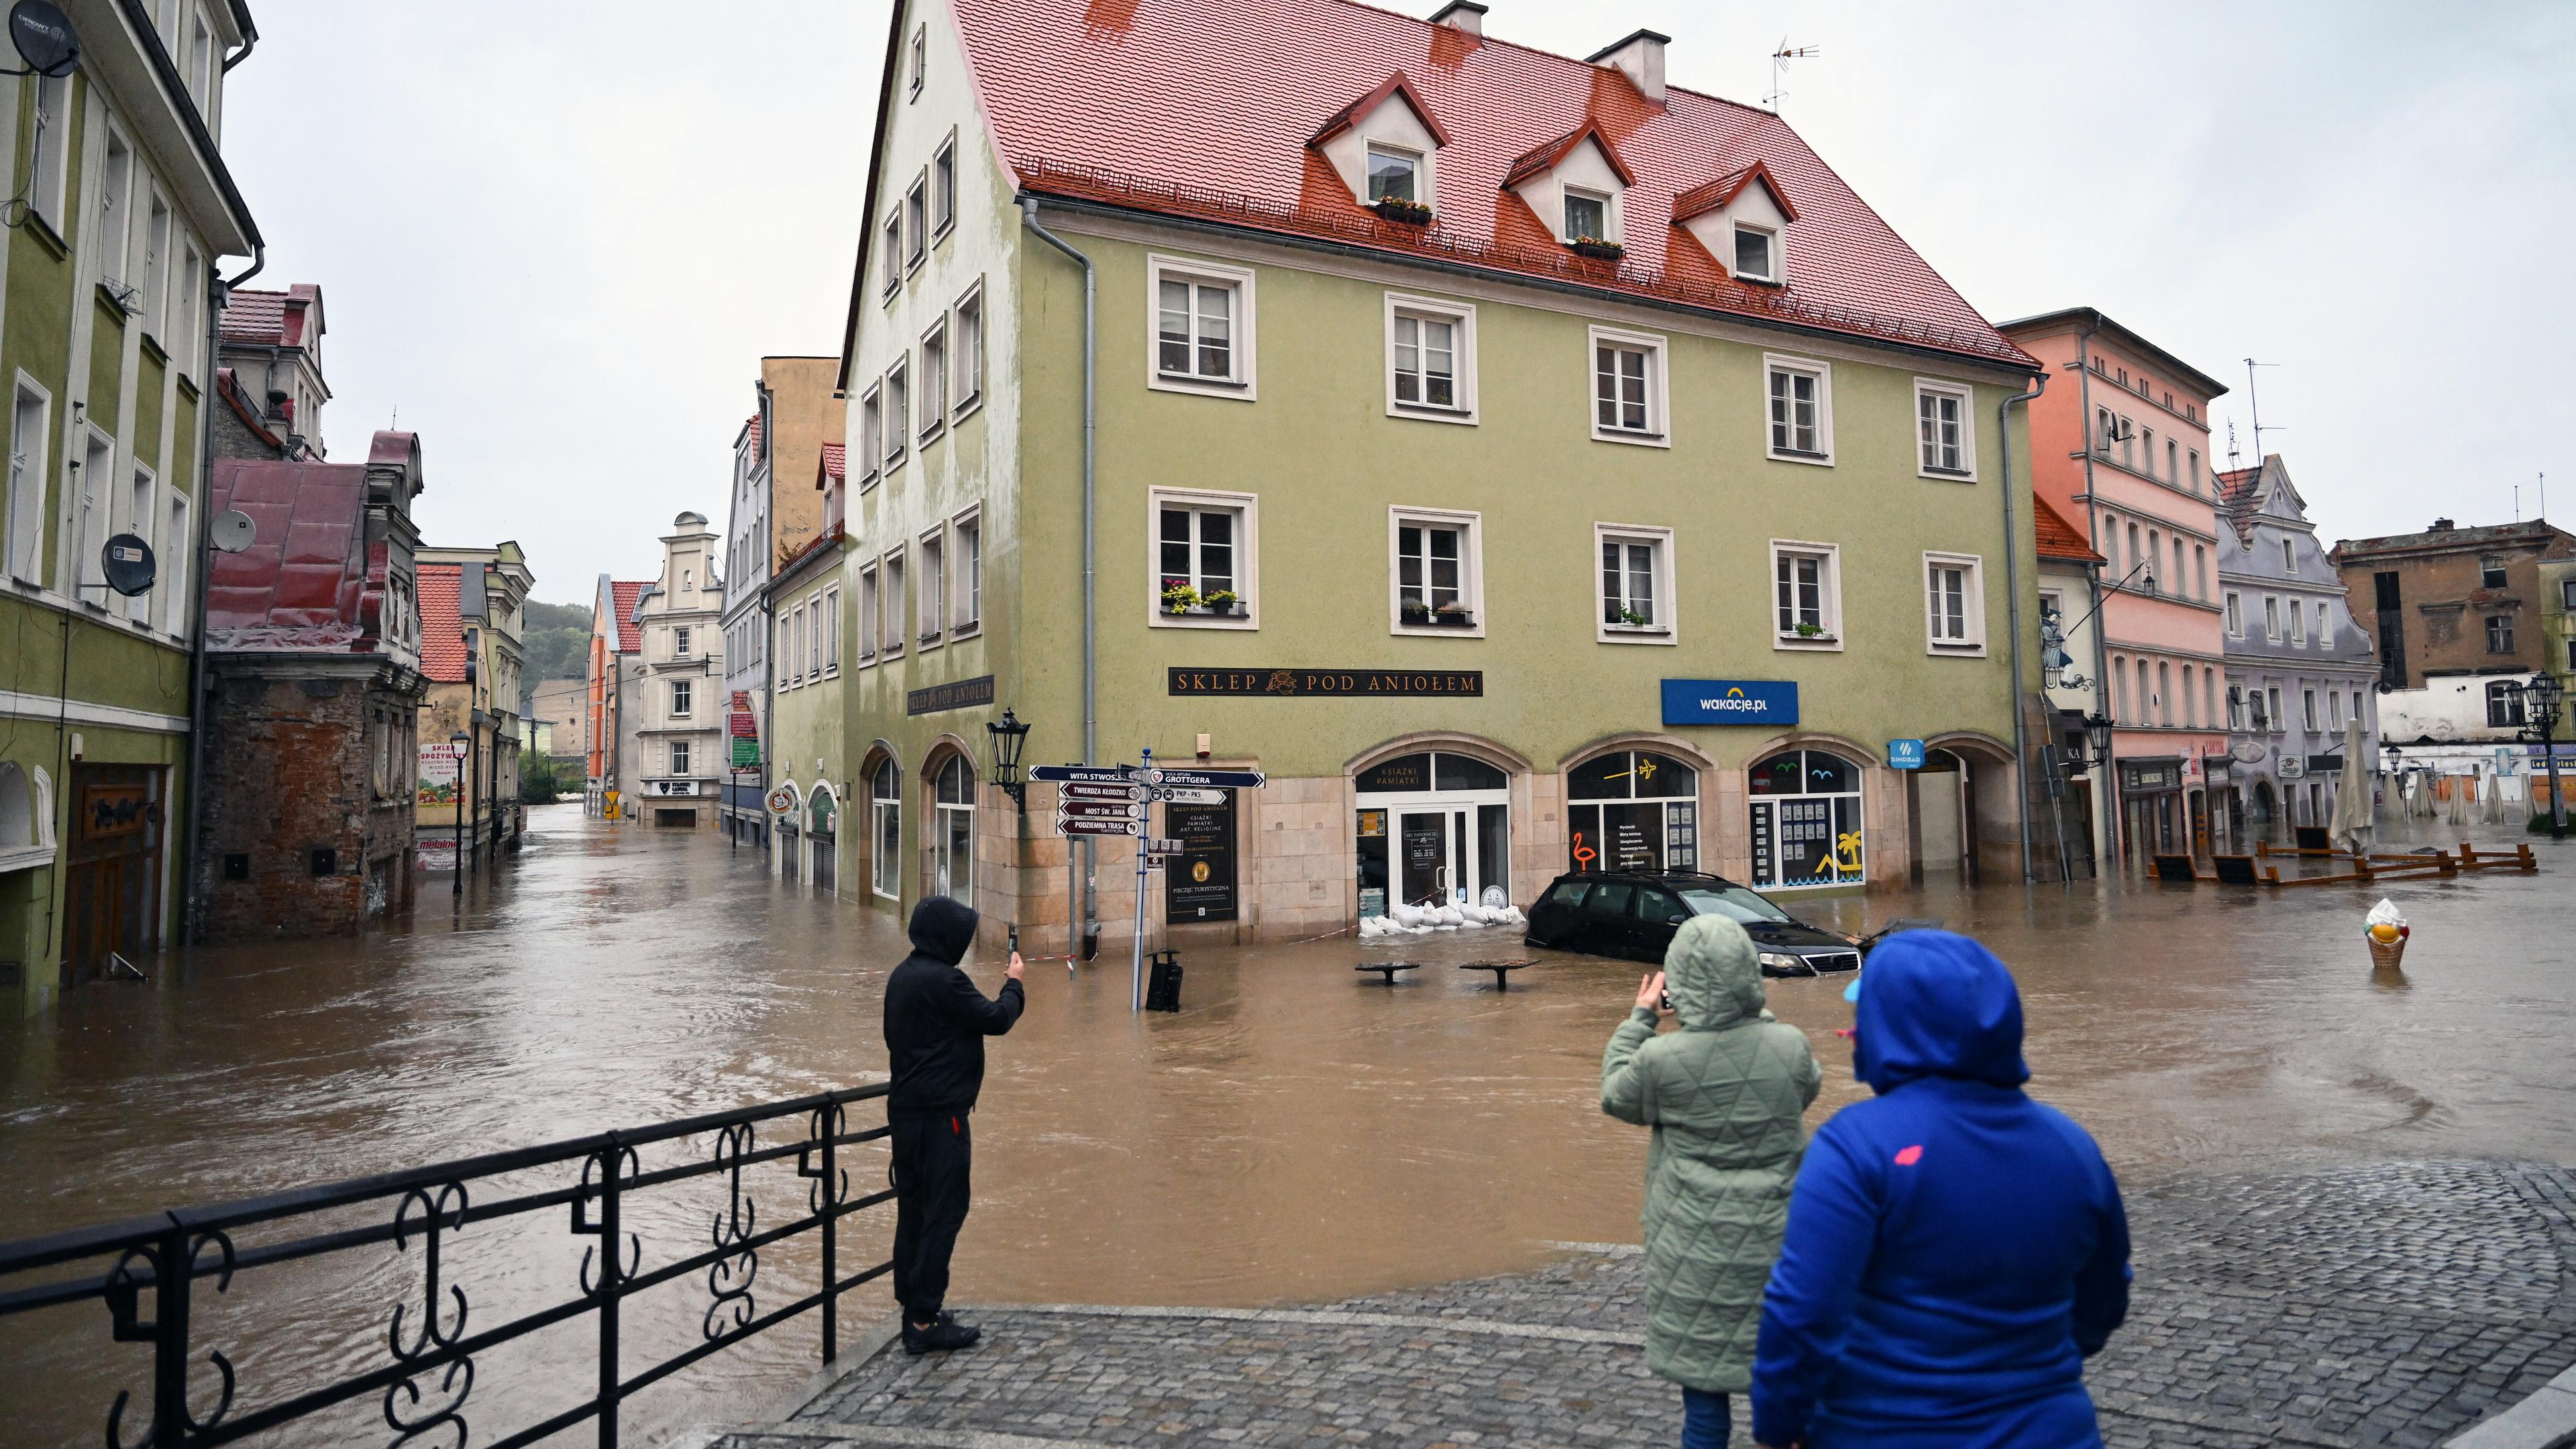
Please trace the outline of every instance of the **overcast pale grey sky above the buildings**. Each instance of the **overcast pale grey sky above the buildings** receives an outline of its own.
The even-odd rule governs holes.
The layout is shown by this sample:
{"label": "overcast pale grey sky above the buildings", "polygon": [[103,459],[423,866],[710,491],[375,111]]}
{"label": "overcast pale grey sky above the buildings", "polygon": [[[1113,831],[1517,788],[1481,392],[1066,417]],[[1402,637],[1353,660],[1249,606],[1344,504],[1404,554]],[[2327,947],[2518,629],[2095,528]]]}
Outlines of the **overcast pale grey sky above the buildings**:
{"label": "overcast pale grey sky above the buildings", "polygon": [[[1146,0],[1151,10],[1157,0]],[[422,531],[538,598],[724,523],[765,353],[835,353],[884,0],[252,0],[224,152],[255,286],[330,304],[335,456],[399,407]],[[1430,13],[1425,0],[1414,13]],[[1651,26],[1783,113],[1986,317],[2102,307],[2218,376],[2326,539],[2576,521],[2576,5],[1494,0],[1566,54]],[[2280,431],[2272,431],[2280,428]]]}

